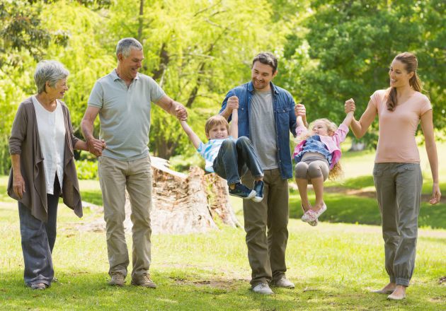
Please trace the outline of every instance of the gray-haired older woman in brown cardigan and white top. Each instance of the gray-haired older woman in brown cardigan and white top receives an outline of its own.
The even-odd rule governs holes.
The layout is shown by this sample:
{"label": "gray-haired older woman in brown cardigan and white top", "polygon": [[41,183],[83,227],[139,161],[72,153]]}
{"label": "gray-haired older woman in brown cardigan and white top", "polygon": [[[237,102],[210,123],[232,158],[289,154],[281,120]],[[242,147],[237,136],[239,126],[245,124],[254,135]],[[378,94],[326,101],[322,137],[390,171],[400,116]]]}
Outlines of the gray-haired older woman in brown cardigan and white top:
{"label": "gray-haired older woman in brown cardigan and white top", "polygon": [[[87,144],[74,137],[68,107],[60,100],[68,90],[68,75],[57,61],[38,64],[38,94],[19,105],[9,139],[8,195],[18,200],[24,278],[33,289],[47,288],[54,278],[51,254],[59,196],[82,216],[73,149],[86,151]],[[92,153],[100,155],[101,141],[94,148]]]}

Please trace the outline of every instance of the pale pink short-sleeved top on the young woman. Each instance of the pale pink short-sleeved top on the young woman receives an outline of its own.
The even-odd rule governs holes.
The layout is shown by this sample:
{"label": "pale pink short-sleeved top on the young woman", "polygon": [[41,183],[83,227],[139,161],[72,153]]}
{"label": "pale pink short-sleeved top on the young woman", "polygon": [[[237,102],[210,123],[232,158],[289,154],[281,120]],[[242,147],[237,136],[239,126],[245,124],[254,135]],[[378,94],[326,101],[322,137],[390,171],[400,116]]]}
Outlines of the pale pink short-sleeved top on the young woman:
{"label": "pale pink short-sleeved top on the young woman", "polygon": [[420,153],[415,134],[421,116],[432,109],[429,99],[415,92],[406,102],[387,110],[387,90],[377,90],[370,96],[379,120],[379,139],[375,163],[419,163]]}

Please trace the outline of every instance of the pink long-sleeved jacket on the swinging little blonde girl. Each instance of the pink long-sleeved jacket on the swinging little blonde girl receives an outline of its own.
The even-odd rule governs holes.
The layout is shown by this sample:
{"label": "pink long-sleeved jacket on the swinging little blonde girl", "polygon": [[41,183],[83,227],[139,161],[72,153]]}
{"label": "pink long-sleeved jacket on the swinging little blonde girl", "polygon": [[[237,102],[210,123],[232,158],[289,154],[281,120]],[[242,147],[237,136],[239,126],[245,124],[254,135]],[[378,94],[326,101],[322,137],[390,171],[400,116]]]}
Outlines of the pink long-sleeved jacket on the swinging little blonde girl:
{"label": "pink long-sleeved jacket on the swinging little blonde girl", "polygon": [[[307,133],[308,129],[306,127],[297,127],[296,128],[296,136],[303,135]],[[347,136],[348,133],[348,127],[346,127],[344,124],[340,124],[338,129],[336,129],[335,134],[333,136],[324,136],[319,135],[321,138],[321,142],[324,143],[329,153],[331,153],[331,165],[330,170],[333,168],[333,166],[338,163],[339,159],[341,158],[341,148],[340,145],[343,141],[345,141],[345,136]],[[292,154],[292,157],[295,158],[296,155],[299,154],[300,151],[304,148],[304,144],[307,142],[307,139],[304,139],[300,143],[297,144],[295,147],[295,152]]]}

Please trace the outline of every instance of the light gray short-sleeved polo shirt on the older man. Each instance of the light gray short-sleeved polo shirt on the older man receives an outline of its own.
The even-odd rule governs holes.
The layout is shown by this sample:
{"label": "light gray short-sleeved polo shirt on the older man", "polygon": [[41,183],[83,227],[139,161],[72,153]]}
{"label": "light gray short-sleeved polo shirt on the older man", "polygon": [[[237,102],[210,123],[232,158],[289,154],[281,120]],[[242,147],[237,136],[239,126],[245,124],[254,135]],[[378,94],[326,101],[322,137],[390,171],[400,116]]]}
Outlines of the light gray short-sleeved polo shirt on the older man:
{"label": "light gray short-sleeved polo shirt on the older man", "polygon": [[144,74],[137,74],[128,88],[114,69],[96,81],[88,106],[99,108],[99,137],[107,143],[103,155],[124,161],[149,155],[151,102],[163,96],[158,83]]}

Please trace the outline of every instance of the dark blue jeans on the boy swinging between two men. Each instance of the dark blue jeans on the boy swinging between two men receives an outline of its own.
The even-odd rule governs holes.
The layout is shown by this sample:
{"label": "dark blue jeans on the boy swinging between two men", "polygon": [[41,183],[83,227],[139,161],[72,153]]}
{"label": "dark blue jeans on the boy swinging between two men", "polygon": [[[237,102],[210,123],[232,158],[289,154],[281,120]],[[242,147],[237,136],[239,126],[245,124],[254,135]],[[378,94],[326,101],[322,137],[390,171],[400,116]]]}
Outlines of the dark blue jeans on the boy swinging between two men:
{"label": "dark blue jeans on the boy swinging between two men", "polygon": [[228,184],[240,182],[240,177],[246,173],[246,170],[250,170],[254,177],[263,176],[258,155],[246,136],[223,141],[212,167],[219,177],[227,180]]}

